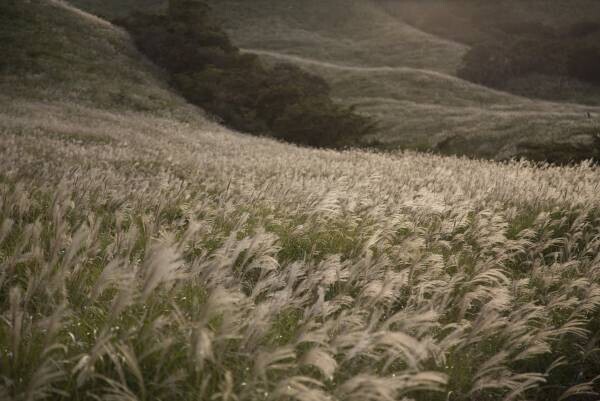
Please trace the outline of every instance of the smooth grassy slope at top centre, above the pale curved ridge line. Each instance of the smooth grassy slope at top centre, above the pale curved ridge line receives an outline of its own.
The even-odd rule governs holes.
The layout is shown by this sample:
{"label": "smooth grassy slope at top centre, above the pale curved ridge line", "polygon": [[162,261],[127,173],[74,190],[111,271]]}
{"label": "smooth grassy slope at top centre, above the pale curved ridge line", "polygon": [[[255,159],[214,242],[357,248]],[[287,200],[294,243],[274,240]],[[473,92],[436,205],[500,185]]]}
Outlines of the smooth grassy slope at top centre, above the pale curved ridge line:
{"label": "smooth grassy slope at top centre, above the pale curved ridge line", "polygon": [[368,0],[209,0],[242,47],[362,66],[453,73],[466,47],[401,24]]}

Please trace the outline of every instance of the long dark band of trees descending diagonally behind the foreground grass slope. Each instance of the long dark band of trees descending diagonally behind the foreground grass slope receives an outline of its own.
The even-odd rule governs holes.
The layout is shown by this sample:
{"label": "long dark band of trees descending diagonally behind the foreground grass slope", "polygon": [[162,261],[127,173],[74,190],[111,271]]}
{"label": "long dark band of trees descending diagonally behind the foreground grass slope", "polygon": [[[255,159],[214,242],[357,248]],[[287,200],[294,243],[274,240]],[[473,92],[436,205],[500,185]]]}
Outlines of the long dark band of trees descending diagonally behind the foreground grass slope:
{"label": "long dark band of trees descending diagonally behind the foreground grass slope", "polygon": [[167,13],[117,23],[175,90],[228,127],[315,147],[353,146],[374,132],[369,118],[331,99],[321,77],[240,52],[204,3],[171,0]]}

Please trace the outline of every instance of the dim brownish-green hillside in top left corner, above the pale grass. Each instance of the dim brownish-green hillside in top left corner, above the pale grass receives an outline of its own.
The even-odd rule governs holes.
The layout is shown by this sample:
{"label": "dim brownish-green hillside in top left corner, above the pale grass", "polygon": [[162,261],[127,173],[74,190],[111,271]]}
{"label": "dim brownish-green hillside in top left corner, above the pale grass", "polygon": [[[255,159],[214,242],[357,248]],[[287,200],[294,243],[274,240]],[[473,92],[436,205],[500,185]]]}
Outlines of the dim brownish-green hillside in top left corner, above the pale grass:
{"label": "dim brownish-green hillside in top left corner, above the pale grass", "polygon": [[0,96],[170,113],[184,104],[128,35],[58,1],[0,4]]}

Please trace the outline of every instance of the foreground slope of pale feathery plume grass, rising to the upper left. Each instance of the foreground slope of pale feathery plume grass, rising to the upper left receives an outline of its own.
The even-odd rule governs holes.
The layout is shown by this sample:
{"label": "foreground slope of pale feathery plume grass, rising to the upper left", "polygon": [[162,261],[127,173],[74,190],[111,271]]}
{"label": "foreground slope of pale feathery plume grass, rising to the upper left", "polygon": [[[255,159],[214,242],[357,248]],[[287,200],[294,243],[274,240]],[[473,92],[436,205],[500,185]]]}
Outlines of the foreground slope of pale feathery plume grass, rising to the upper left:
{"label": "foreground slope of pale feathery plume grass, rising to the upper left", "polygon": [[7,4],[3,51],[35,73],[0,71],[0,399],[600,391],[597,167],[233,133],[122,31]]}

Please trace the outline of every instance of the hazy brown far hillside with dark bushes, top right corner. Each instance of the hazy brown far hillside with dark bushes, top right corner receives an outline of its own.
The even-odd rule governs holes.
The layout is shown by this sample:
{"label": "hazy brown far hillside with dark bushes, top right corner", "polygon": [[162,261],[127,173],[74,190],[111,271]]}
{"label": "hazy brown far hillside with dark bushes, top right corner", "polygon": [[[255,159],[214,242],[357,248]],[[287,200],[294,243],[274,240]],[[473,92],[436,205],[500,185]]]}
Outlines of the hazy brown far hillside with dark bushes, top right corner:
{"label": "hazy brown far hillside with dark bushes, top right corner", "polygon": [[532,98],[600,105],[597,1],[378,4],[419,29],[473,46],[464,58],[465,79]]}

